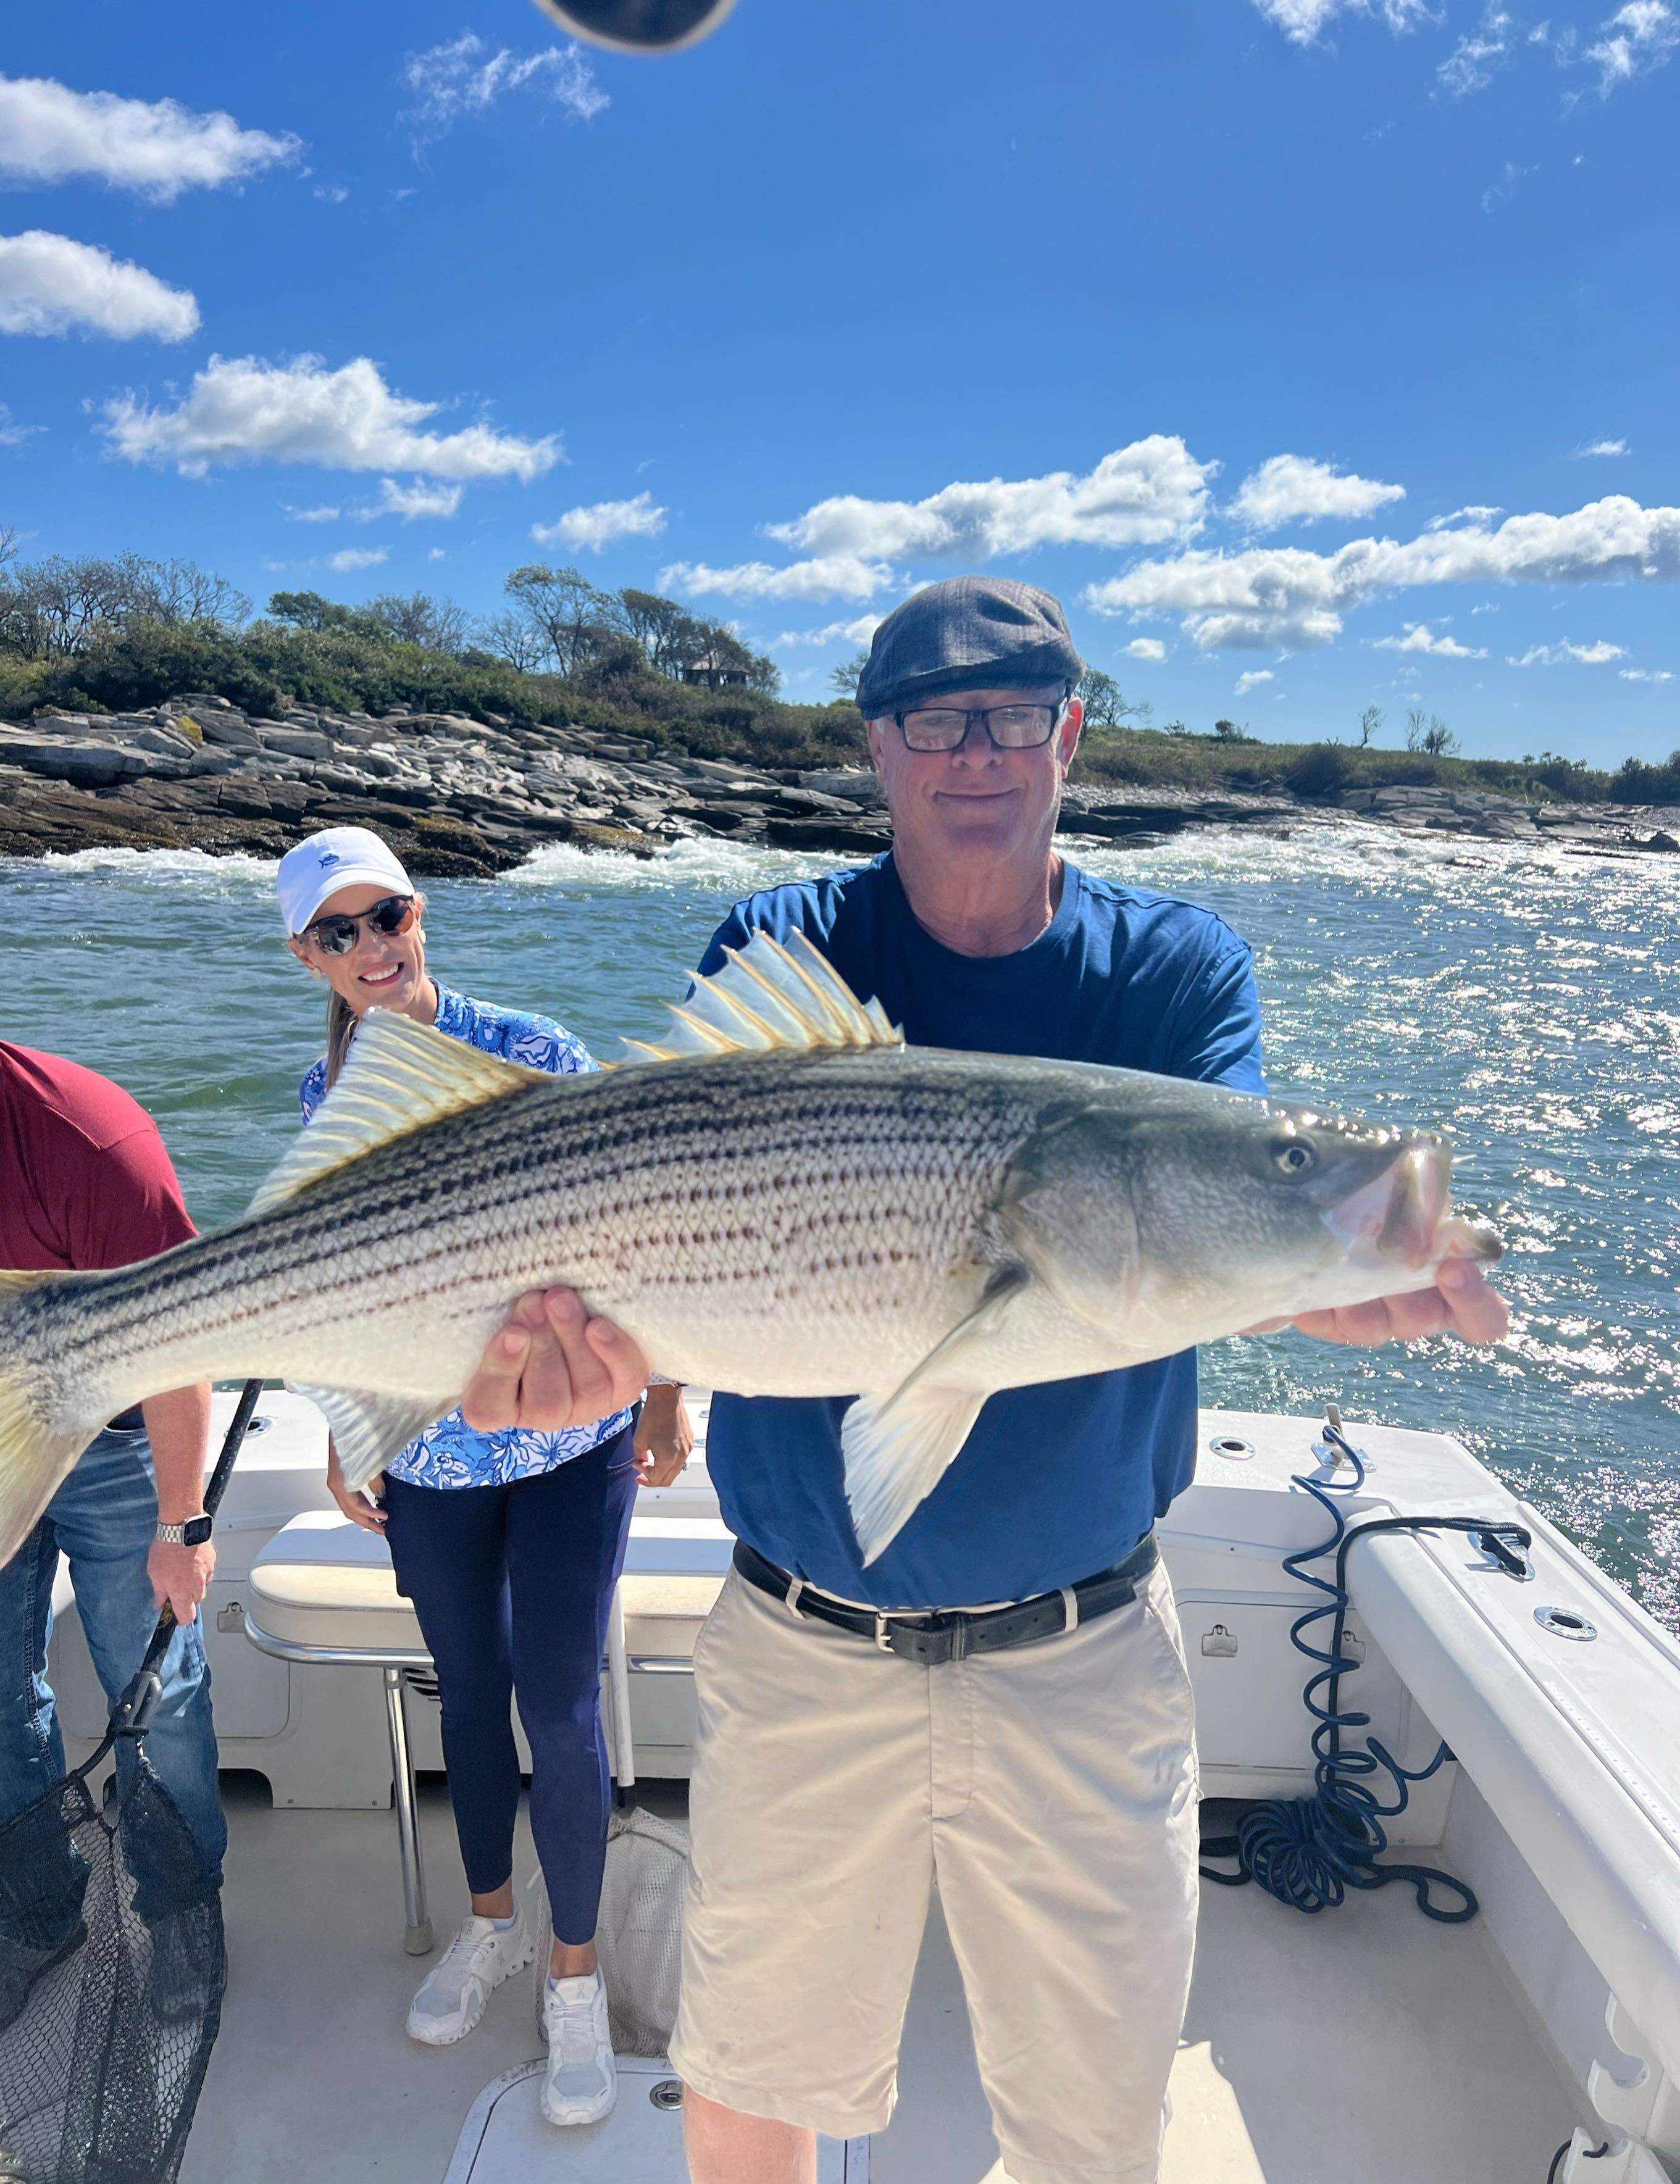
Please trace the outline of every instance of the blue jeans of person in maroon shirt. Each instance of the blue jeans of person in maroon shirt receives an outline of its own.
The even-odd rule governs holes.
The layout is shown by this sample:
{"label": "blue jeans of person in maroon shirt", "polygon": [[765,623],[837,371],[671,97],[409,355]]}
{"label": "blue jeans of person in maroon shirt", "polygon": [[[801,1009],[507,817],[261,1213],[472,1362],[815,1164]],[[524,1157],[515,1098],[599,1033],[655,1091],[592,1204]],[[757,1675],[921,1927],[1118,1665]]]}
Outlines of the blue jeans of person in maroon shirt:
{"label": "blue jeans of person in maroon shirt", "polygon": [[[142,1431],[100,1433],[46,1505],[35,1531],[0,1568],[0,1819],[33,1804],[63,1776],[46,1640],[52,1629],[52,1579],[70,1557],[76,1612],[87,1651],[116,1701],[151,1640],[157,1603],[146,1551],[157,1524],[151,1444]],[[164,1695],[146,1730],[146,1756],[181,1811],[214,1878],[227,1848],[216,1795],[216,1730],[210,1719],[210,1664],[203,1625],[177,1629],[164,1655]],[[116,1747],[118,1784],[133,1771],[133,1743]],[[66,1845],[68,1850],[68,1845]],[[135,1872],[135,1909],[146,1918],[149,1876]],[[179,1878],[170,1894],[179,1891]]]}

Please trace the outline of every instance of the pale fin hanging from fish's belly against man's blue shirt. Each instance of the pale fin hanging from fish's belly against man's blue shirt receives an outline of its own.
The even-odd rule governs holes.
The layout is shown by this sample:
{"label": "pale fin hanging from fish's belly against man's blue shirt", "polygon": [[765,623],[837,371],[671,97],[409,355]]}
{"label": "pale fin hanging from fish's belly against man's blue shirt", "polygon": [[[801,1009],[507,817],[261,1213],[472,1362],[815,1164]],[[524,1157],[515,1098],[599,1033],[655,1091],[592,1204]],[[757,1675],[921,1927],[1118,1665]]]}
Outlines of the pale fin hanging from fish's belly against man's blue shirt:
{"label": "pale fin hanging from fish's belly against man's blue shirt", "polygon": [[859,1396],[841,1420],[845,1500],[865,1568],[891,1546],[968,1439],[994,1391],[985,1354],[1031,1280],[1025,1267],[1011,1267],[891,1396]]}

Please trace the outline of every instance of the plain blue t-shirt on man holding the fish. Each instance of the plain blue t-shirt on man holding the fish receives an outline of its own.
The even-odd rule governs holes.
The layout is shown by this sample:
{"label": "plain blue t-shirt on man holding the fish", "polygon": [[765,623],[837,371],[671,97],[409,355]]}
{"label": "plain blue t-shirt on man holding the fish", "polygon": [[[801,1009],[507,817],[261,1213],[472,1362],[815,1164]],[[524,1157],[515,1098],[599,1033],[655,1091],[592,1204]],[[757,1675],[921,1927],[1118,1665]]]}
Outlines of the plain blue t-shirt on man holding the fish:
{"label": "plain blue t-shirt on man holding the fish", "polygon": [[[1195,902],[1066,865],[1062,902],[1007,957],[953,954],[911,913],[891,854],[736,904],[701,963],[802,930],[913,1046],[1046,1055],[1263,1092],[1252,954]],[[961,1607],[1119,1562],[1195,1470],[1195,1350],[992,1396],[961,1455],[863,1568],[845,1507],[845,1398],[712,1400],[706,1459],[730,1529],[824,1592]]]}

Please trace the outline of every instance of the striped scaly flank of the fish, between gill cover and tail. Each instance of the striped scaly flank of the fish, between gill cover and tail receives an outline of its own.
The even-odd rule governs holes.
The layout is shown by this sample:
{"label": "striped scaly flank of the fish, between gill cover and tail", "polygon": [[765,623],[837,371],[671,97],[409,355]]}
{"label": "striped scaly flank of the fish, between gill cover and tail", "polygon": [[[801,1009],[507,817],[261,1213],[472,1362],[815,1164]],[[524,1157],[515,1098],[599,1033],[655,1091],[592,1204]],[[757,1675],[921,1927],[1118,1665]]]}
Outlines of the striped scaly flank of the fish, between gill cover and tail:
{"label": "striped scaly flank of the fish, between gill cover and tail", "polygon": [[52,1348],[66,1378],[114,1352],[229,1345],[240,1363],[218,1374],[308,1378],[380,1315],[441,1332],[570,1282],[666,1354],[743,1330],[762,1345],[771,1315],[808,1328],[806,1354],[883,1324],[920,1354],[950,1326],[953,1284],[983,1286],[987,1212],[1062,1090],[1049,1075],[900,1048],[533,1085],[100,1278],[96,1324],[68,1315]]}

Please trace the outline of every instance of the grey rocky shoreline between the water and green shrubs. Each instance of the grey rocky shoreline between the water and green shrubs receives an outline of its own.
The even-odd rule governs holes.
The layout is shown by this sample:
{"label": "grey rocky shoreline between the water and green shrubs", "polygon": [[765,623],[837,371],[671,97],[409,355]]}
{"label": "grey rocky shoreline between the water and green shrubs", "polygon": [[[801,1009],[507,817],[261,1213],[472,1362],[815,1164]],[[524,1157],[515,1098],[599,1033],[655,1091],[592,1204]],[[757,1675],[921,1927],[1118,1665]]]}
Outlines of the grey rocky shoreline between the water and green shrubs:
{"label": "grey rocky shoreline between the water and green shrubs", "polygon": [[[1521,804],[1464,788],[1350,788],[1335,804],[1073,784],[1068,834],[1151,847],[1191,826],[1293,832],[1357,817],[1411,834],[1547,841],[1586,854],[1680,852],[1680,815]],[[0,856],[208,850],[280,856],[321,826],[371,826],[417,878],[489,878],[544,843],[653,856],[684,839],[874,856],[889,828],[861,769],[778,771],[634,736],[465,714],[291,708],[277,719],[186,692],[144,712],[46,708],[0,723]]]}

